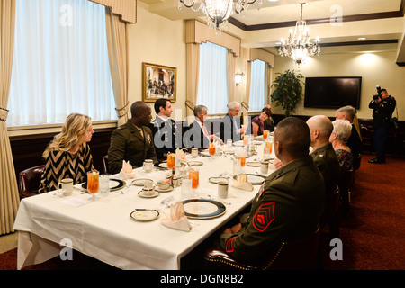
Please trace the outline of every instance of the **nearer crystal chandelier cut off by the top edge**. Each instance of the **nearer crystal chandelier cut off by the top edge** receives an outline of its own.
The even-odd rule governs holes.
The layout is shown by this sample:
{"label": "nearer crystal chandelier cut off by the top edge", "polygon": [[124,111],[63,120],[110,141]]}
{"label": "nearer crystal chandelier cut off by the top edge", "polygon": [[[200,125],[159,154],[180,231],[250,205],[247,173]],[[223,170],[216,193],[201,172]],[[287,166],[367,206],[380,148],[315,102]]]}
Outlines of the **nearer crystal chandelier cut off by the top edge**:
{"label": "nearer crystal chandelier cut off by the top edge", "polygon": [[[201,0],[197,9],[197,0],[178,0],[178,9],[182,9],[182,5],[191,8],[194,12],[202,10],[207,16],[207,24],[209,27],[221,31],[224,25],[228,25],[228,19],[233,13],[245,14],[247,7],[254,4],[257,0]],[[262,4],[262,0],[259,0]]]}

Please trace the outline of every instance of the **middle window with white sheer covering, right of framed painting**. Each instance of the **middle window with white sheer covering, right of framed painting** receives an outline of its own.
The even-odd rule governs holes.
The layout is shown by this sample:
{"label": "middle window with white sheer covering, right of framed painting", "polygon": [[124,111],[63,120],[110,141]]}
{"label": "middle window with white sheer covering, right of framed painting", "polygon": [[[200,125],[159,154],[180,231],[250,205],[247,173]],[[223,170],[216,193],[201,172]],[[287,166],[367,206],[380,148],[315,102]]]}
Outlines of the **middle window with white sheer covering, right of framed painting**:
{"label": "middle window with white sheer covering, right of framed painting", "polygon": [[210,114],[228,112],[227,49],[210,42],[200,48],[197,105]]}

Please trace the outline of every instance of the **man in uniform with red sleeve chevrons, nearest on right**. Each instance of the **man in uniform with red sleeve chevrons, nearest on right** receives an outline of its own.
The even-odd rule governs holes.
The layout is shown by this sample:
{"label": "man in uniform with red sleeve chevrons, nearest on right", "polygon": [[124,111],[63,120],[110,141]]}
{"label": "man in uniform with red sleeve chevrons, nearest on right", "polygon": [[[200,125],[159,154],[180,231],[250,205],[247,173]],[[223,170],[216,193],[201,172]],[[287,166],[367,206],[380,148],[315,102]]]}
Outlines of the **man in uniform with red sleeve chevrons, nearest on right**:
{"label": "man in uniform with red sleeve chevrons, nearest on right", "polygon": [[284,166],[269,175],[241,222],[225,229],[217,246],[244,263],[258,263],[282,241],[311,235],[324,209],[325,185],[309,155],[305,121],[289,117],[275,130],[275,156]]}

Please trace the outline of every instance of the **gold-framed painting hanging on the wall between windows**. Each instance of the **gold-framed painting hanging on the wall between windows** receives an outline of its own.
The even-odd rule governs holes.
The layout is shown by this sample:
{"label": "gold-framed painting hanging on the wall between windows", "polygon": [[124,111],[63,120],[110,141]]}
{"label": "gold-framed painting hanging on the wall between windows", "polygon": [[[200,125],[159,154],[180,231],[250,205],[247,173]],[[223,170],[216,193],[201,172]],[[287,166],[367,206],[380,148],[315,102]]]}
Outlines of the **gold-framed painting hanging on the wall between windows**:
{"label": "gold-framed painting hanging on the wall between windows", "polygon": [[175,102],[177,68],[145,62],[142,66],[142,100],[155,102],[159,98],[165,98]]}

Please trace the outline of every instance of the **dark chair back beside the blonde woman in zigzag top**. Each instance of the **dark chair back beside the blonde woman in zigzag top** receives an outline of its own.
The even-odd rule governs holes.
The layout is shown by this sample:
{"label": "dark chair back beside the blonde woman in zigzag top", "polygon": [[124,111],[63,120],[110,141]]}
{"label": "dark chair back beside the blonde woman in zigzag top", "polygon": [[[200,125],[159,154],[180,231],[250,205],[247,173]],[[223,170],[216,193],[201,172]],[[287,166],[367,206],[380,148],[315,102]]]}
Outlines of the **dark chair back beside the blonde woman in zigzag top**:
{"label": "dark chair back beside the blonde woman in zigzag top", "polygon": [[40,176],[43,174],[44,168],[44,165],[33,166],[18,174],[21,199],[38,194],[40,188]]}

